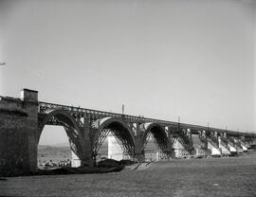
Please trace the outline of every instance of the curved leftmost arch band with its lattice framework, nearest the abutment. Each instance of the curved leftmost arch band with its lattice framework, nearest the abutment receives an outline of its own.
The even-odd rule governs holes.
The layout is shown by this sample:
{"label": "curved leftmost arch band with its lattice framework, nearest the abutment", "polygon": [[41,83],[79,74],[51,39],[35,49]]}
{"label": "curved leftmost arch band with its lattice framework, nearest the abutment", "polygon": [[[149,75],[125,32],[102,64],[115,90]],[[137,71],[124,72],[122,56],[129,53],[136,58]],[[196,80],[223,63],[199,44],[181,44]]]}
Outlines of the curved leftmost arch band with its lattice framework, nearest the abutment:
{"label": "curved leftmost arch band with its lattice framework, nearest the abutment", "polygon": [[79,158],[81,157],[82,134],[80,133],[78,123],[73,116],[65,112],[63,109],[47,111],[46,114],[39,120],[37,145],[39,144],[41,134],[43,133],[46,125],[63,126],[64,131],[68,136],[71,151],[75,152]]}

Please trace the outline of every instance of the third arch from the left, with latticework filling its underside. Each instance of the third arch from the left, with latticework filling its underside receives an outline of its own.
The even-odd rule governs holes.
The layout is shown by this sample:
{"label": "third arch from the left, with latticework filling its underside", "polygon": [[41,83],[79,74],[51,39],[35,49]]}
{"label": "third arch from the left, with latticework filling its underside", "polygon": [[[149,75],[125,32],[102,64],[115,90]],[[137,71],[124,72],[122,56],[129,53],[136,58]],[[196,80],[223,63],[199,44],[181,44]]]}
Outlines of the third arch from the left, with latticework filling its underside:
{"label": "third arch from the left, with latticework filling its underside", "polygon": [[171,156],[169,148],[170,142],[164,128],[157,123],[147,122],[140,125],[140,130],[144,131],[144,135],[142,137],[143,148],[147,144],[149,135],[152,134],[155,140],[155,145],[158,149],[160,149],[167,157]]}

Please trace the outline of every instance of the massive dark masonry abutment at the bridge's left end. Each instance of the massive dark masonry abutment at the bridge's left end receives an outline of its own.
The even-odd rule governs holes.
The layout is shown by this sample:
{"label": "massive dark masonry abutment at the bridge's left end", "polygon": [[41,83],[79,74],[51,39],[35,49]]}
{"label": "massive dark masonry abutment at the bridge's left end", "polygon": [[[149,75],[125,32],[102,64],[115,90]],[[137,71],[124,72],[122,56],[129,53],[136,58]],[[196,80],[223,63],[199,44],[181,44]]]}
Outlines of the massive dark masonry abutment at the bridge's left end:
{"label": "massive dark masonry abutment at the bridge's left end", "polygon": [[0,176],[37,170],[38,92],[0,99]]}

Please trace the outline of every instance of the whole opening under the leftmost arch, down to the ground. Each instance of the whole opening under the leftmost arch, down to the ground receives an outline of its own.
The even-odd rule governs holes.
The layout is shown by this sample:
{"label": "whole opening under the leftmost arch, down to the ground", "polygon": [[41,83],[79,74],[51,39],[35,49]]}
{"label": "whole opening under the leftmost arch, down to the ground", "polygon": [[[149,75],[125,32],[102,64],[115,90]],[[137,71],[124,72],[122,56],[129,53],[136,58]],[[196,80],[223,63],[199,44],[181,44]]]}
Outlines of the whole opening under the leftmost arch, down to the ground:
{"label": "whole opening under the leftmost arch, down to the ground", "polygon": [[[82,147],[75,119],[60,110],[40,119],[38,168],[79,167]],[[43,145],[43,146],[42,146]]]}

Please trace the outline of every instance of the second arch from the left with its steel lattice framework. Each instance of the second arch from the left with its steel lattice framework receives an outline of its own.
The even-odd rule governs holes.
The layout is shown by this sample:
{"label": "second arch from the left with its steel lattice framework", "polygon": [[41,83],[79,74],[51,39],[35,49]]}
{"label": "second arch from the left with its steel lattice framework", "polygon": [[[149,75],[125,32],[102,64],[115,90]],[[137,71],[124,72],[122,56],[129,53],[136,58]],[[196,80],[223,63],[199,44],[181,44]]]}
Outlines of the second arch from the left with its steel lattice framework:
{"label": "second arch from the left with its steel lattice framework", "polygon": [[135,136],[132,133],[129,125],[127,125],[121,119],[111,116],[96,120],[94,125],[97,129],[93,140],[94,157],[97,155],[103,141],[110,133],[115,136],[123,152],[131,157],[134,157]]}

